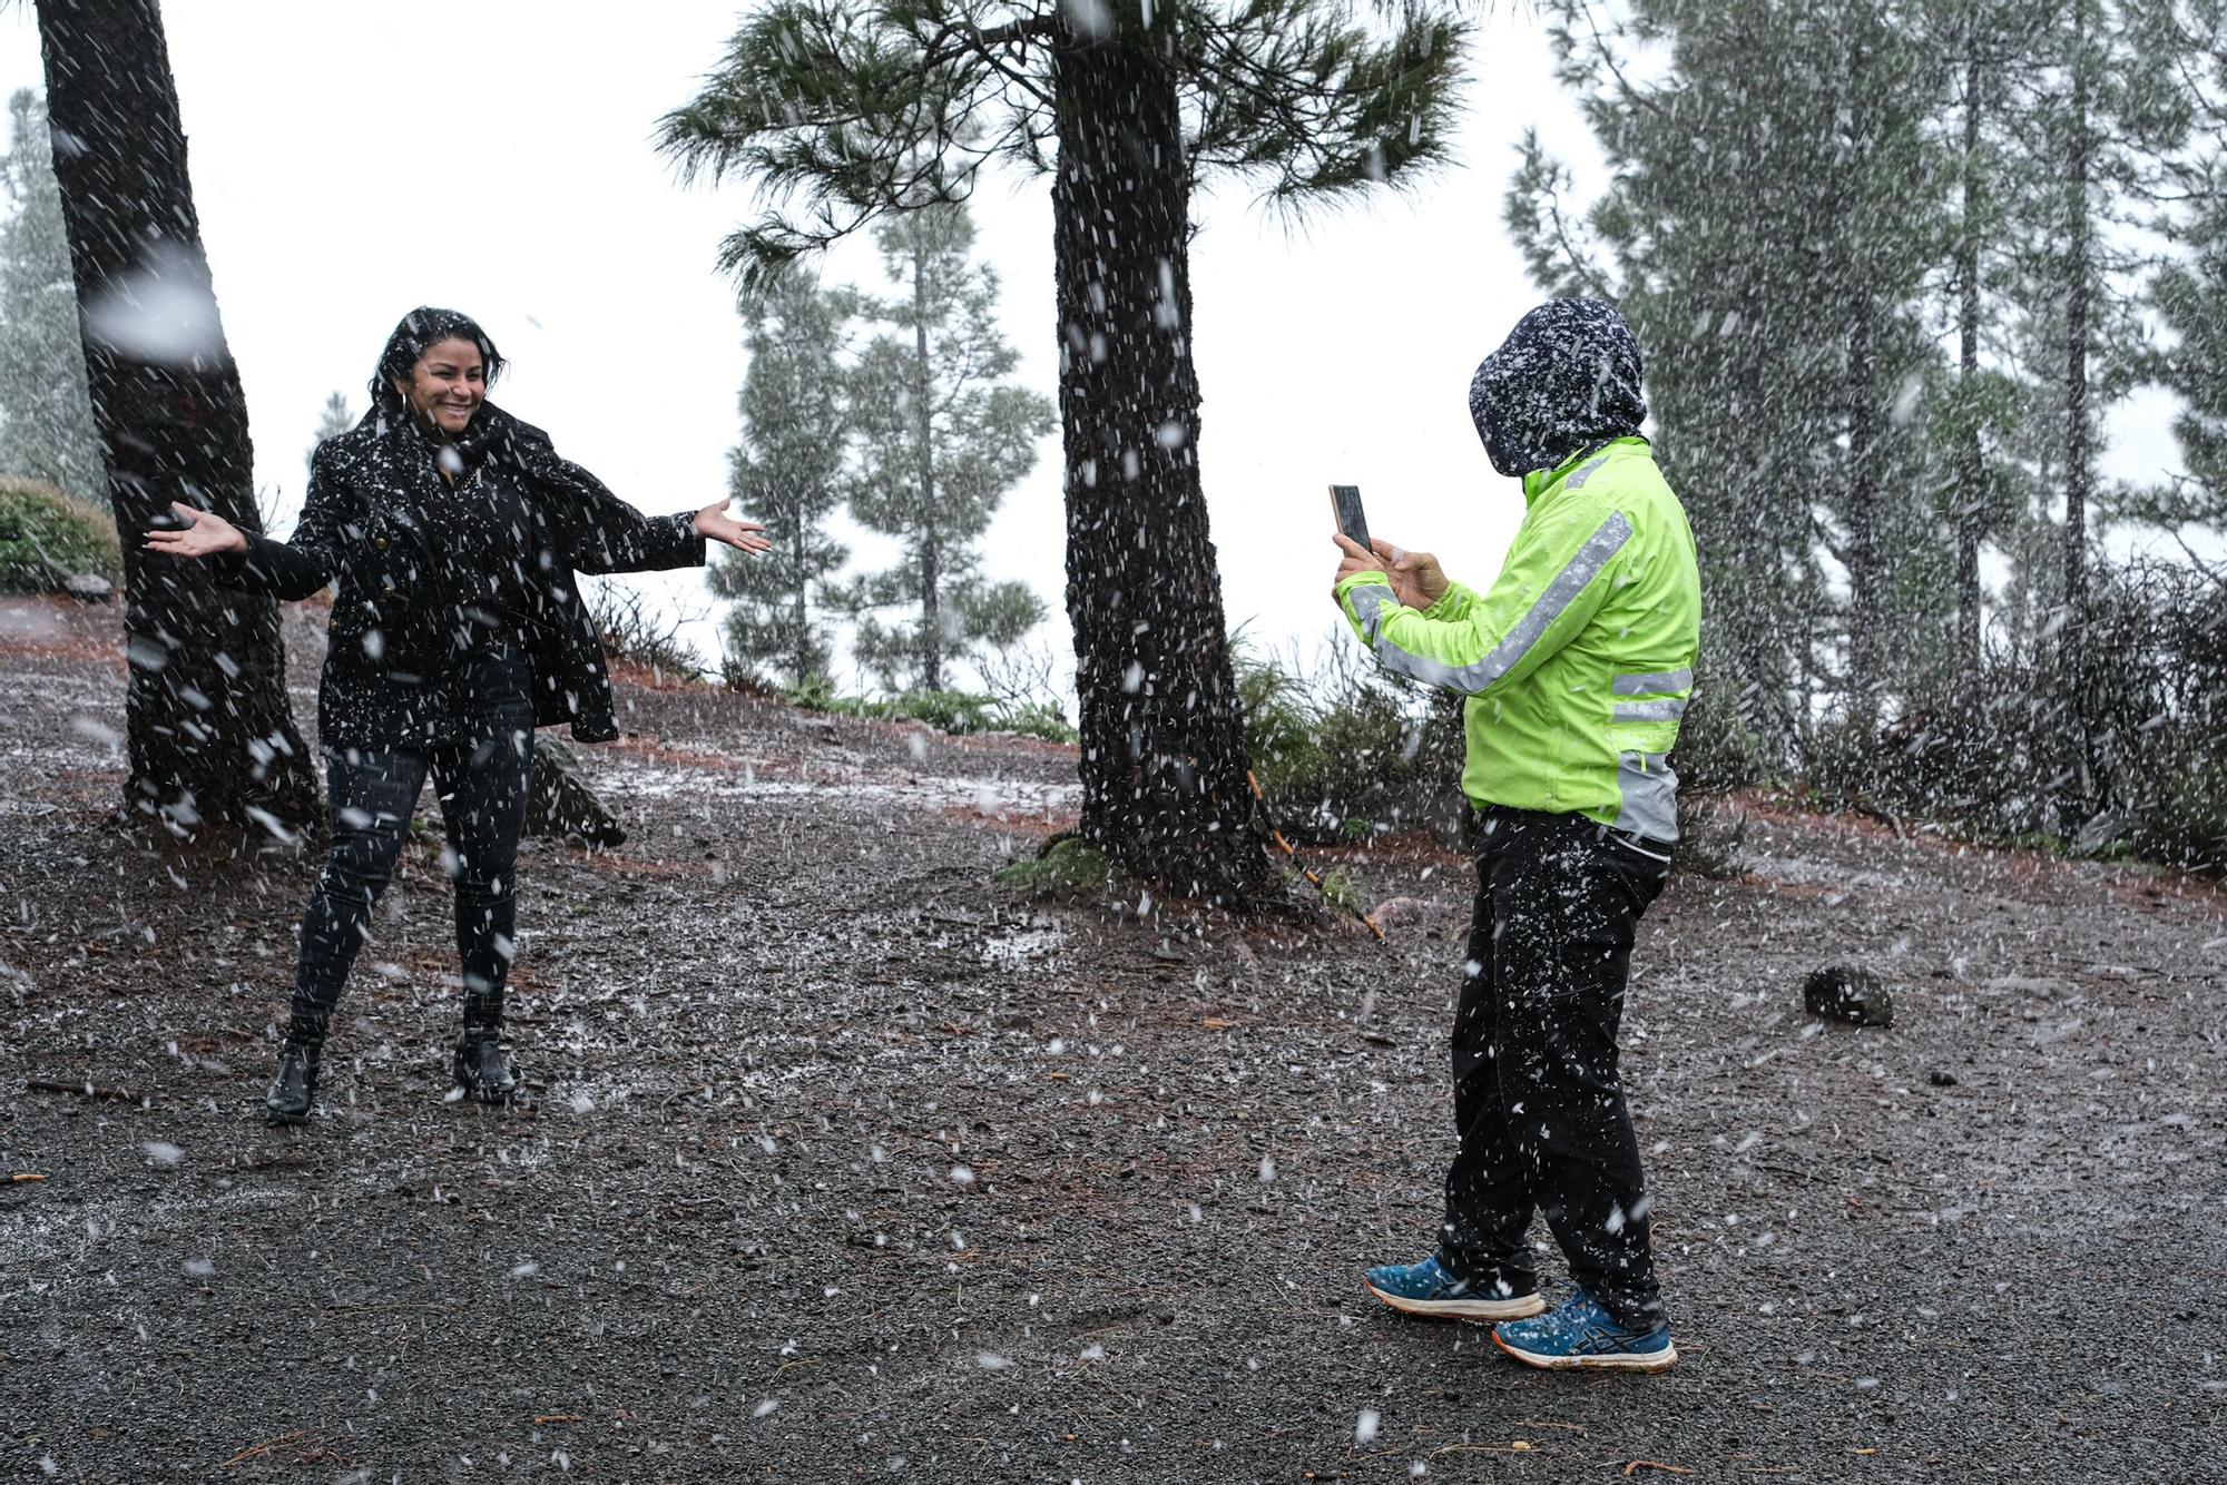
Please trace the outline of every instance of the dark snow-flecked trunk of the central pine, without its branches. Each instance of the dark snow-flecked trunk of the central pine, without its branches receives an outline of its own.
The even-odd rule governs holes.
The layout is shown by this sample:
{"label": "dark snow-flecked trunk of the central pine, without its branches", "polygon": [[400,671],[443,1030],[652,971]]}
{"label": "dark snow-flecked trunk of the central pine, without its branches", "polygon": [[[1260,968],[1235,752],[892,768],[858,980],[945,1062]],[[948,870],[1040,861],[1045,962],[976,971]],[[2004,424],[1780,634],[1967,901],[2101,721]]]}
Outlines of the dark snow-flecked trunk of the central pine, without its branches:
{"label": "dark snow-flecked trunk of the central pine, without its branches", "polygon": [[[1073,13],[1073,11],[1069,11]],[[1062,16],[1051,187],[1087,842],[1189,897],[1243,902],[1245,730],[1198,479],[1189,171],[1169,16],[1091,38]]]}

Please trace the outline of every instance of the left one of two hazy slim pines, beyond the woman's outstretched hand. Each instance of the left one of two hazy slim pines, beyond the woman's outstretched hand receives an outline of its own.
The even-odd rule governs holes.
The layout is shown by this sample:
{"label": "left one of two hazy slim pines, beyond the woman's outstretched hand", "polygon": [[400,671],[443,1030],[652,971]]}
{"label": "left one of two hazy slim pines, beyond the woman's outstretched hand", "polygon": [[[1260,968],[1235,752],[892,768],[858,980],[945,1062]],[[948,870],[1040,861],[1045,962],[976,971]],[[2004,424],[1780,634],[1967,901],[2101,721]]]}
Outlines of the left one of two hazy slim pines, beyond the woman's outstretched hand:
{"label": "left one of two hazy slim pines, beyond the woman's outstretched hand", "polygon": [[750,521],[764,521],[773,550],[719,552],[710,590],[728,599],[728,655],[791,684],[828,672],[831,646],[813,599],[848,550],[824,530],[842,503],[846,443],[842,338],[848,296],[826,292],[788,267],[744,305],[750,363],[742,376],[742,443],[730,456],[728,492]]}

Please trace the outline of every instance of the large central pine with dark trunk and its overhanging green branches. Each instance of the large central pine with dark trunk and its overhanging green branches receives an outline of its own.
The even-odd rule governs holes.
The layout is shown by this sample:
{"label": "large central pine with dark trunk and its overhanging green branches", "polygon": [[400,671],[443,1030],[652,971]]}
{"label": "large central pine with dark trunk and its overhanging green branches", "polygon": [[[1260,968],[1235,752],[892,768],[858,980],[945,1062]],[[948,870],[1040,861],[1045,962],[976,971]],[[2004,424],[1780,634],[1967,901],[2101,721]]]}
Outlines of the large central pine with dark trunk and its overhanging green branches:
{"label": "large central pine with dark trunk and its overhanging green branches", "polygon": [[991,160],[1051,176],[1080,835],[1171,891],[1252,899],[1267,857],[1198,479],[1191,187],[1298,207],[1443,154],[1465,24],[1448,0],[962,7],[775,0],[664,120],[693,174],[766,187],[746,278]]}

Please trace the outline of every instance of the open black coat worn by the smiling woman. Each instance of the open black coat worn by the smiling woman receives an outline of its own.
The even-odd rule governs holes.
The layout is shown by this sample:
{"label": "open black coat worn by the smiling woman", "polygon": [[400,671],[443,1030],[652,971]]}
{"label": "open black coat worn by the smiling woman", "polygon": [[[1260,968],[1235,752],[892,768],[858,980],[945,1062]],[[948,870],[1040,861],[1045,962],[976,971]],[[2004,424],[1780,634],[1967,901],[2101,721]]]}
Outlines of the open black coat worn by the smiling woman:
{"label": "open black coat worn by the smiling woman", "polygon": [[[468,503],[441,476],[443,445],[410,419],[365,414],[316,448],[294,537],[249,537],[216,559],[218,583],[276,599],[336,586],[316,717],[325,748],[421,746],[439,730],[470,590],[494,594],[499,623],[523,632],[534,724],[615,739],[604,646],[572,574],[702,566],[693,512],[641,514],[488,403],[445,450]],[[477,525],[459,530],[459,505]]]}

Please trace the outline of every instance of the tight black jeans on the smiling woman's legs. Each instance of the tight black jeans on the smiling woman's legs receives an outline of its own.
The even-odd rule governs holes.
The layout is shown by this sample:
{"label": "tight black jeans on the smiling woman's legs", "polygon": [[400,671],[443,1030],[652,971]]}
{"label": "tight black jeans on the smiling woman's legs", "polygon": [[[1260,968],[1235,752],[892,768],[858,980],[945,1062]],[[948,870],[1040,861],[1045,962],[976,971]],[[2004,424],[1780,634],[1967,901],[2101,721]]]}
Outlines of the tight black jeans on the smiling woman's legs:
{"label": "tight black jeans on the smiling woman's legs", "polygon": [[370,935],[372,904],[394,875],[428,773],[448,826],[441,864],[457,895],[463,1029],[465,1035],[494,1035],[503,1022],[534,708],[526,657],[517,646],[470,652],[457,666],[452,697],[463,717],[450,732],[454,741],[325,753],[332,855],[301,922],[294,1040],[323,1042],[347,968]]}

